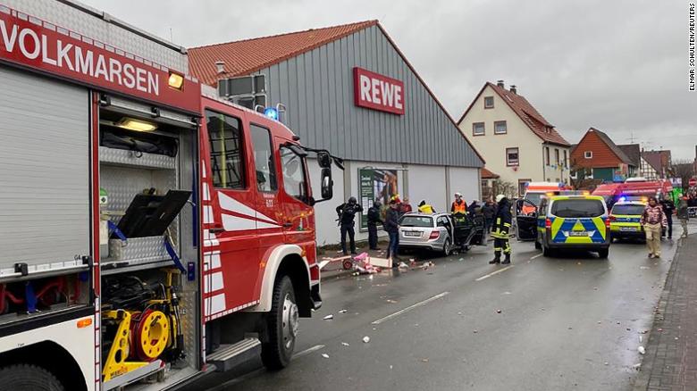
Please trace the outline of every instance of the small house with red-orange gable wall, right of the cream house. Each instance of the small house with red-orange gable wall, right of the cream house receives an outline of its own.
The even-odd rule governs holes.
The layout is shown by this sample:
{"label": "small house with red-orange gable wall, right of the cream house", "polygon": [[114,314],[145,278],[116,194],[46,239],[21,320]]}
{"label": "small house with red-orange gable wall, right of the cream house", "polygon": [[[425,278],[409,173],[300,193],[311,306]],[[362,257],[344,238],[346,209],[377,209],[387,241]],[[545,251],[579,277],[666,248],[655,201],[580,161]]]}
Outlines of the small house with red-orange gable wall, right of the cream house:
{"label": "small house with red-orange gable wall, right of the cream house", "polygon": [[571,150],[571,168],[576,177],[623,182],[638,166],[605,132],[590,128]]}

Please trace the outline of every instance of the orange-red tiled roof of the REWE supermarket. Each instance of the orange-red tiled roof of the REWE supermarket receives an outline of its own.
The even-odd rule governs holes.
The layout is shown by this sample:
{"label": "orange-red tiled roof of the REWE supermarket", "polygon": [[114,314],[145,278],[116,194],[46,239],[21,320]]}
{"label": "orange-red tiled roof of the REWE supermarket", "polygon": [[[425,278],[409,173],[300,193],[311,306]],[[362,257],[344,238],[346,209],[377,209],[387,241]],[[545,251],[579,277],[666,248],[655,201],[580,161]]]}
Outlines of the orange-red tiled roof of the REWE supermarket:
{"label": "orange-red tiled roof of the REWE supermarket", "polygon": [[[359,21],[323,29],[192,47],[189,49],[189,71],[204,83],[215,86],[221,76],[231,78],[248,75],[377,23],[378,21]],[[215,67],[215,62],[219,61],[225,62],[223,74],[219,74]]]}

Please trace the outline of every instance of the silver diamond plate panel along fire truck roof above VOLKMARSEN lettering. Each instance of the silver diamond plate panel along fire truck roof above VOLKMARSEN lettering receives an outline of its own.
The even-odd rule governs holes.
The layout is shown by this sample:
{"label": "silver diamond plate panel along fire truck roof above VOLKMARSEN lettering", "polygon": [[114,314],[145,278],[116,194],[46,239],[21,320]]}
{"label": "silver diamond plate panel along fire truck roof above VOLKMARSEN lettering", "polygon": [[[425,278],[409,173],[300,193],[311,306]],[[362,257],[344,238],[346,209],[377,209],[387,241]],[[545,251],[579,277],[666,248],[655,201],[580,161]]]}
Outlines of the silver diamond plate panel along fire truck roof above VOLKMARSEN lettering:
{"label": "silver diamond plate panel along fire truck roof above VOLKMARSEN lettering", "polygon": [[180,46],[149,35],[97,9],[55,0],[3,0],[3,4],[173,70],[189,71],[189,60],[178,50]]}

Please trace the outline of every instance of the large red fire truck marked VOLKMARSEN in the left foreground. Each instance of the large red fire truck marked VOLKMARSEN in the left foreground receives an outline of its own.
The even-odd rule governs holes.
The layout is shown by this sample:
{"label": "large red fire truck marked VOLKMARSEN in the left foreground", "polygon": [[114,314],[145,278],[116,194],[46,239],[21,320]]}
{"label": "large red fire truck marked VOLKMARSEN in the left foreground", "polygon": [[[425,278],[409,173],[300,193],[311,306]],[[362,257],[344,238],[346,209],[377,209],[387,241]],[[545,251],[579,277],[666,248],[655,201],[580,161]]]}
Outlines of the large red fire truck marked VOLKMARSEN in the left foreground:
{"label": "large red fire truck marked VOLKMARSEN in the left foreground", "polygon": [[3,389],[159,391],[257,354],[289,364],[321,305],[313,205],[340,159],[187,68],[83,4],[0,4]]}

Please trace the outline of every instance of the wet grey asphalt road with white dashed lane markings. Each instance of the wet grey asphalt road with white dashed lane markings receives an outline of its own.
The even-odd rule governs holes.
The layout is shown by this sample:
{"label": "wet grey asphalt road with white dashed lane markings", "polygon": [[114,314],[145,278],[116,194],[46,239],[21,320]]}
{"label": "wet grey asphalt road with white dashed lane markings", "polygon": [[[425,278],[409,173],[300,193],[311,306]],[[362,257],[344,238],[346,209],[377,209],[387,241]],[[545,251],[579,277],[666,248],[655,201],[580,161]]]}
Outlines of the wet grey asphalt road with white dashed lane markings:
{"label": "wet grey asphalt road with white dashed lane markings", "polygon": [[613,244],[609,260],[512,244],[509,268],[487,263],[490,243],[447,259],[421,254],[436,263],[429,270],[323,281],[323,308],[302,320],[289,368],[249,362],[197,387],[630,389],[676,245],[664,242],[657,261],[642,244]]}

